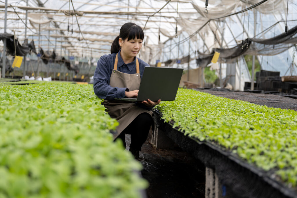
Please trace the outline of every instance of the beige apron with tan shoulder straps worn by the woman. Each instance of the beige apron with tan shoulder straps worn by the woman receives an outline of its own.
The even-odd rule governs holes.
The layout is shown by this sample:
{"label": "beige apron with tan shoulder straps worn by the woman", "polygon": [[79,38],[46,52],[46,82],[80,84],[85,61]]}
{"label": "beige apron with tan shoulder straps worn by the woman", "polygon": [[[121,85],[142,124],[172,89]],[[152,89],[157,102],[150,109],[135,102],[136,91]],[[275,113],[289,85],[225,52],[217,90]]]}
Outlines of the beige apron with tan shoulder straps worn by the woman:
{"label": "beige apron with tan shoulder straps worn by the woman", "polygon": [[[124,88],[127,87],[129,91],[139,89],[140,86],[140,73],[139,63],[136,58],[136,74],[126,74],[117,71],[118,67],[118,55],[114,62],[112,74],[110,76],[109,85],[112,87]],[[116,129],[116,133],[113,134],[113,139],[119,136],[119,134],[126,129],[126,127],[141,113],[149,113],[151,116],[152,111],[145,110],[136,106],[135,102],[119,102],[119,100],[104,100],[103,105],[107,108],[107,112],[111,118],[115,118],[120,124]]]}

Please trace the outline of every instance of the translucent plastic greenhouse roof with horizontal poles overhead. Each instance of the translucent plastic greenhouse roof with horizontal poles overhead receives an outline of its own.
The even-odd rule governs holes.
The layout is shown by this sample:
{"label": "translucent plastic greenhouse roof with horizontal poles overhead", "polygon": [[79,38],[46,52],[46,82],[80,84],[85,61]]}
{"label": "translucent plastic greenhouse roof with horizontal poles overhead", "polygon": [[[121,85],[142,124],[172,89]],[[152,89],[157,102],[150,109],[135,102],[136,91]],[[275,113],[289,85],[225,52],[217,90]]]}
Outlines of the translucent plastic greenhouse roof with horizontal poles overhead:
{"label": "translucent plastic greenhouse roof with horizontal poles overhead", "polygon": [[[4,32],[4,1],[0,1],[1,33]],[[68,55],[69,52],[70,56],[99,58],[110,52],[111,42],[119,34],[121,25],[126,22],[134,22],[144,28],[148,17],[168,3],[160,12],[149,18],[144,30],[144,41],[146,47],[150,49],[150,54],[142,55],[143,58],[150,57],[147,59],[152,63],[155,63],[156,60],[164,62],[170,58],[181,58],[188,54],[194,58],[197,56],[197,50],[209,53],[214,47],[234,47],[242,39],[254,36],[254,26],[256,34],[268,28],[268,31],[259,34],[257,38],[270,38],[284,32],[285,22],[279,22],[278,25],[270,29],[269,27],[286,19],[287,0],[269,0],[244,13],[220,20],[211,20],[208,25],[195,33],[209,19],[238,12],[259,2],[260,0],[209,1],[208,14],[205,14],[205,1],[200,0],[171,0],[169,3],[165,0],[72,0],[73,7],[78,14],[76,15],[77,22],[75,15],[67,15],[69,11],[70,13],[73,11],[72,3],[69,0],[28,0],[28,5],[26,5],[26,0],[8,0],[7,33],[15,34],[22,43],[25,38],[23,22],[25,22],[27,10],[26,37],[29,41],[34,39],[36,47],[39,45],[40,24],[40,46],[44,50],[56,48],[56,52],[58,54],[62,52],[62,55]],[[10,5],[18,12],[23,22],[19,20]],[[257,15],[256,20],[254,20],[255,14]],[[178,16],[178,38],[174,38],[176,16]],[[297,3],[294,0],[289,0],[287,19],[289,29],[297,25]],[[69,32],[67,31],[68,24]],[[71,29],[73,29],[73,33]],[[194,36],[189,39],[189,35],[192,34]],[[3,46],[3,42],[0,42],[0,45]],[[190,47],[186,47],[189,45]],[[144,48],[141,53],[148,52],[147,48]],[[293,50],[290,48],[288,52],[285,52],[289,54],[287,62],[292,61]],[[276,55],[273,58],[281,61],[281,58],[277,58],[278,56],[283,55]],[[259,60],[269,60],[269,58],[265,58],[258,56]],[[297,63],[296,59],[294,61]],[[277,62],[279,61],[274,61],[274,63]],[[288,66],[279,63],[269,67],[267,64],[267,69],[278,70],[282,74]],[[190,67],[196,68],[195,61],[191,61]],[[262,67],[266,69],[264,64]]]}

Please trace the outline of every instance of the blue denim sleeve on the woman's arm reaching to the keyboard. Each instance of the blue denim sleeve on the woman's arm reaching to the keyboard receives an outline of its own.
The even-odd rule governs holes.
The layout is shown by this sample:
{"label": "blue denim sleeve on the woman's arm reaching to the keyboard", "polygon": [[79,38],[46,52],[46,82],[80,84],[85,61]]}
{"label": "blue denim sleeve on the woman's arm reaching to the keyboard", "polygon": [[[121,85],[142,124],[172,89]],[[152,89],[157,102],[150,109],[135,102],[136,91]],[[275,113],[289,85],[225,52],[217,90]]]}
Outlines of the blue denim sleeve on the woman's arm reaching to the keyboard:
{"label": "blue denim sleeve on the woman's arm reaching to the keyboard", "polygon": [[105,100],[125,97],[125,91],[129,91],[128,88],[112,87],[109,85],[109,79],[112,73],[111,62],[112,58],[108,57],[108,55],[101,56],[94,72],[94,93],[99,98]]}

